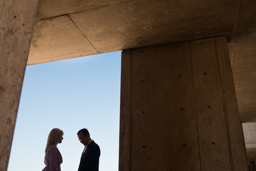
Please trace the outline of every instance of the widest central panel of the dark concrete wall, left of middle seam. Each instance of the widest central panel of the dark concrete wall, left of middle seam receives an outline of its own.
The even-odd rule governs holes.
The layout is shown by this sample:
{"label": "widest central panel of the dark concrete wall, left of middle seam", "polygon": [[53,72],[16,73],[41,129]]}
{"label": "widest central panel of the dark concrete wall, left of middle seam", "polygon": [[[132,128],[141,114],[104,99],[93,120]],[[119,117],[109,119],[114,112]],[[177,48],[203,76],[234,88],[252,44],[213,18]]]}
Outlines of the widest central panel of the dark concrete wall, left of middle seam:
{"label": "widest central panel of the dark concrete wall, left of middle seam", "polygon": [[132,170],[201,170],[189,42],[132,50]]}

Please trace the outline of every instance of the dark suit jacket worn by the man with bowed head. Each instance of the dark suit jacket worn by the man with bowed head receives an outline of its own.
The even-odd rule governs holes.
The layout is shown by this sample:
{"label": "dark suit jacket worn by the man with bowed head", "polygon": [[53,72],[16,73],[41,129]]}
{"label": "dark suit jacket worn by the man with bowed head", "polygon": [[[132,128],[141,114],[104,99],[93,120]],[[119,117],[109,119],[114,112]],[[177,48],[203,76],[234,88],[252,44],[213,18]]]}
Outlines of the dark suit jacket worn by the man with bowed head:
{"label": "dark suit jacket worn by the man with bowed head", "polygon": [[[84,151],[83,151],[84,152]],[[98,171],[99,170],[99,156],[101,150],[98,144],[92,141],[82,153],[78,171]]]}

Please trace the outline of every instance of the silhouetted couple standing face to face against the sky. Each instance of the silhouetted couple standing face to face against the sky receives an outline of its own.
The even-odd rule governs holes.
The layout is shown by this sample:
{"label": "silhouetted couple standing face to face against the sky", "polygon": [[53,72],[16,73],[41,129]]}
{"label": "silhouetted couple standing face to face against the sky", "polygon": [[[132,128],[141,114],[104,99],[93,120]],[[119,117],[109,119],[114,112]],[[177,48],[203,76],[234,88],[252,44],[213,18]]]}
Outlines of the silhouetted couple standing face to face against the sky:
{"label": "silhouetted couple standing face to face against the sky", "polygon": [[[49,133],[47,144],[45,148],[45,165],[42,171],[61,171],[60,164],[62,156],[57,148],[57,144],[63,140],[63,131],[54,128]],[[77,133],[78,140],[84,144],[85,148],[82,153],[78,171],[98,171],[99,170],[99,156],[101,150],[90,137],[87,129],[79,130]]]}

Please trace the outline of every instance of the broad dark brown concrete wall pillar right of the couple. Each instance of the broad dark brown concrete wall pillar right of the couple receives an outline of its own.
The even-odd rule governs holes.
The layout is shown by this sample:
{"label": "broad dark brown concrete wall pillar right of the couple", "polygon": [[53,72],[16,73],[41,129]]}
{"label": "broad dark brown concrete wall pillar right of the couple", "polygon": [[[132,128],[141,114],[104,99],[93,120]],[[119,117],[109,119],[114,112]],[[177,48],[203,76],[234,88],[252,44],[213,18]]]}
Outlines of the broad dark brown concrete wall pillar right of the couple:
{"label": "broad dark brown concrete wall pillar right of the couple", "polygon": [[226,37],[122,52],[119,171],[248,170]]}

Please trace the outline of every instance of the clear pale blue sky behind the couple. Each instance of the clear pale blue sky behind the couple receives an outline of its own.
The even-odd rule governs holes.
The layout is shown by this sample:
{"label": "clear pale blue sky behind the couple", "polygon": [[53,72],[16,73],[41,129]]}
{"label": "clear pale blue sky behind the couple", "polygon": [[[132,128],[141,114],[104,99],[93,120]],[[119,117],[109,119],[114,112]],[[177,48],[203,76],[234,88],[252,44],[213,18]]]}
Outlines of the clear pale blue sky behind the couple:
{"label": "clear pale blue sky behind the couple", "polygon": [[117,171],[120,78],[121,51],[27,66],[8,171],[41,171],[53,128],[64,131],[61,171],[78,169],[82,128],[101,148],[99,171]]}

